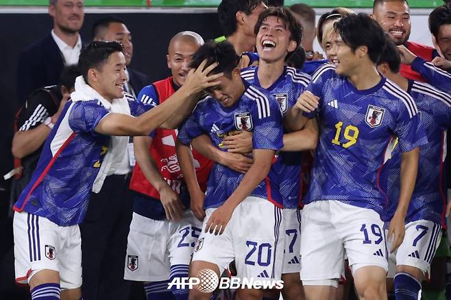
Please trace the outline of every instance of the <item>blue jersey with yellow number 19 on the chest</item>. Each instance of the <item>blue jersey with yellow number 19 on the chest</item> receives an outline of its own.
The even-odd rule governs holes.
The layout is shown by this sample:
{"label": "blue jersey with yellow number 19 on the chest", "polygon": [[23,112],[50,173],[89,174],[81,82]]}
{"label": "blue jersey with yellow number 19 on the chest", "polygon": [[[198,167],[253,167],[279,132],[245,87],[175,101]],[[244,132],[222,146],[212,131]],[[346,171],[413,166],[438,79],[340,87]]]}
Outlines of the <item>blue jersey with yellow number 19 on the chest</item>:
{"label": "blue jersey with yellow number 19 on the chest", "polygon": [[319,117],[319,142],[305,203],[339,200],[380,214],[387,203],[380,171],[393,135],[402,152],[427,142],[415,102],[386,78],[358,90],[332,65],[315,73],[308,91],[319,97],[317,110],[304,113]]}

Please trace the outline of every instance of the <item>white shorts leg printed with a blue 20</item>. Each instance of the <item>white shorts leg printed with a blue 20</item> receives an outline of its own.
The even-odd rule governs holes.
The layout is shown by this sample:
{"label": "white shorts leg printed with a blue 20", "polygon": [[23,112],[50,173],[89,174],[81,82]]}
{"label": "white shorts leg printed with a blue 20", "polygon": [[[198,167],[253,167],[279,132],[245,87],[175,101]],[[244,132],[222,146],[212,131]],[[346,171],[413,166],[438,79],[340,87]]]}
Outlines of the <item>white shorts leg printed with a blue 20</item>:
{"label": "white shorts leg printed with a blue 20", "polygon": [[233,248],[238,277],[280,279],[284,247],[282,209],[247,197],[236,207]]}

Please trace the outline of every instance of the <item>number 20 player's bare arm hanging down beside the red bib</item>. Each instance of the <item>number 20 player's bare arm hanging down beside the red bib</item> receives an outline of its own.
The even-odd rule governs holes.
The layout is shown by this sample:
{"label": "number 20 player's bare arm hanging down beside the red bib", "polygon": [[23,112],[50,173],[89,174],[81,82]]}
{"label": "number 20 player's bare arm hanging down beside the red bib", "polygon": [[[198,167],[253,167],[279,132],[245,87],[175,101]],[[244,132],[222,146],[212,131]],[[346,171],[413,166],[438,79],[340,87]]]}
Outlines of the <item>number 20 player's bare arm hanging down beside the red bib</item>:
{"label": "number 20 player's bare arm hanging down beside the red bib", "polygon": [[184,145],[179,139],[175,142],[175,152],[177,152],[178,163],[188,187],[190,196],[190,208],[193,214],[200,221],[205,218],[204,198],[205,194],[197,181],[196,169],[194,166],[193,153],[189,146]]}

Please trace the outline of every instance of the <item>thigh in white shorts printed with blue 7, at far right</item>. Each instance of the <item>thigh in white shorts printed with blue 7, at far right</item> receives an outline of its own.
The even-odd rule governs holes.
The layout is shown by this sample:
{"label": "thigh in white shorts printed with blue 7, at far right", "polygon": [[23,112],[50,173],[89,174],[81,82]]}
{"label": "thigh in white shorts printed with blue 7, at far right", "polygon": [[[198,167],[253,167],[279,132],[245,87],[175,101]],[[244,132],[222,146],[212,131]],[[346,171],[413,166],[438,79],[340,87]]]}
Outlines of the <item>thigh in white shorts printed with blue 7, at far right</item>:
{"label": "thigh in white shorts printed with blue 7, at far right", "polygon": [[[406,224],[404,240],[395,255],[396,272],[409,273],[422,281],[422,276],[430,273],[430,263],[440,244],[441,235],[440,224],[429,220]],[[391,242],[387,243],[387,247],[391,247]]]}

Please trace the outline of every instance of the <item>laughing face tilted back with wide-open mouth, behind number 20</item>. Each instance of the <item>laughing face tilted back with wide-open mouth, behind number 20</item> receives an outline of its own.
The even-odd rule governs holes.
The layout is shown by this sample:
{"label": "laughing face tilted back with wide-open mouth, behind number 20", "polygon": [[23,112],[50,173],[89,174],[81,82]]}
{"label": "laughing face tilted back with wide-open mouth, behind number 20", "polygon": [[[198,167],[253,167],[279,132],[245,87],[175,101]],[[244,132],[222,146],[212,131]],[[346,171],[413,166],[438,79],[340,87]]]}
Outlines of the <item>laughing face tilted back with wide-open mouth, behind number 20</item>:
{"label": "laughing face tilted back with wide-open mouth, behind number 20", "polygon": [[297,44],[291,40],[287,25],[277,16],[268,16],[258,30],[256,47],[260,59],[267,62],[284,61]]}

